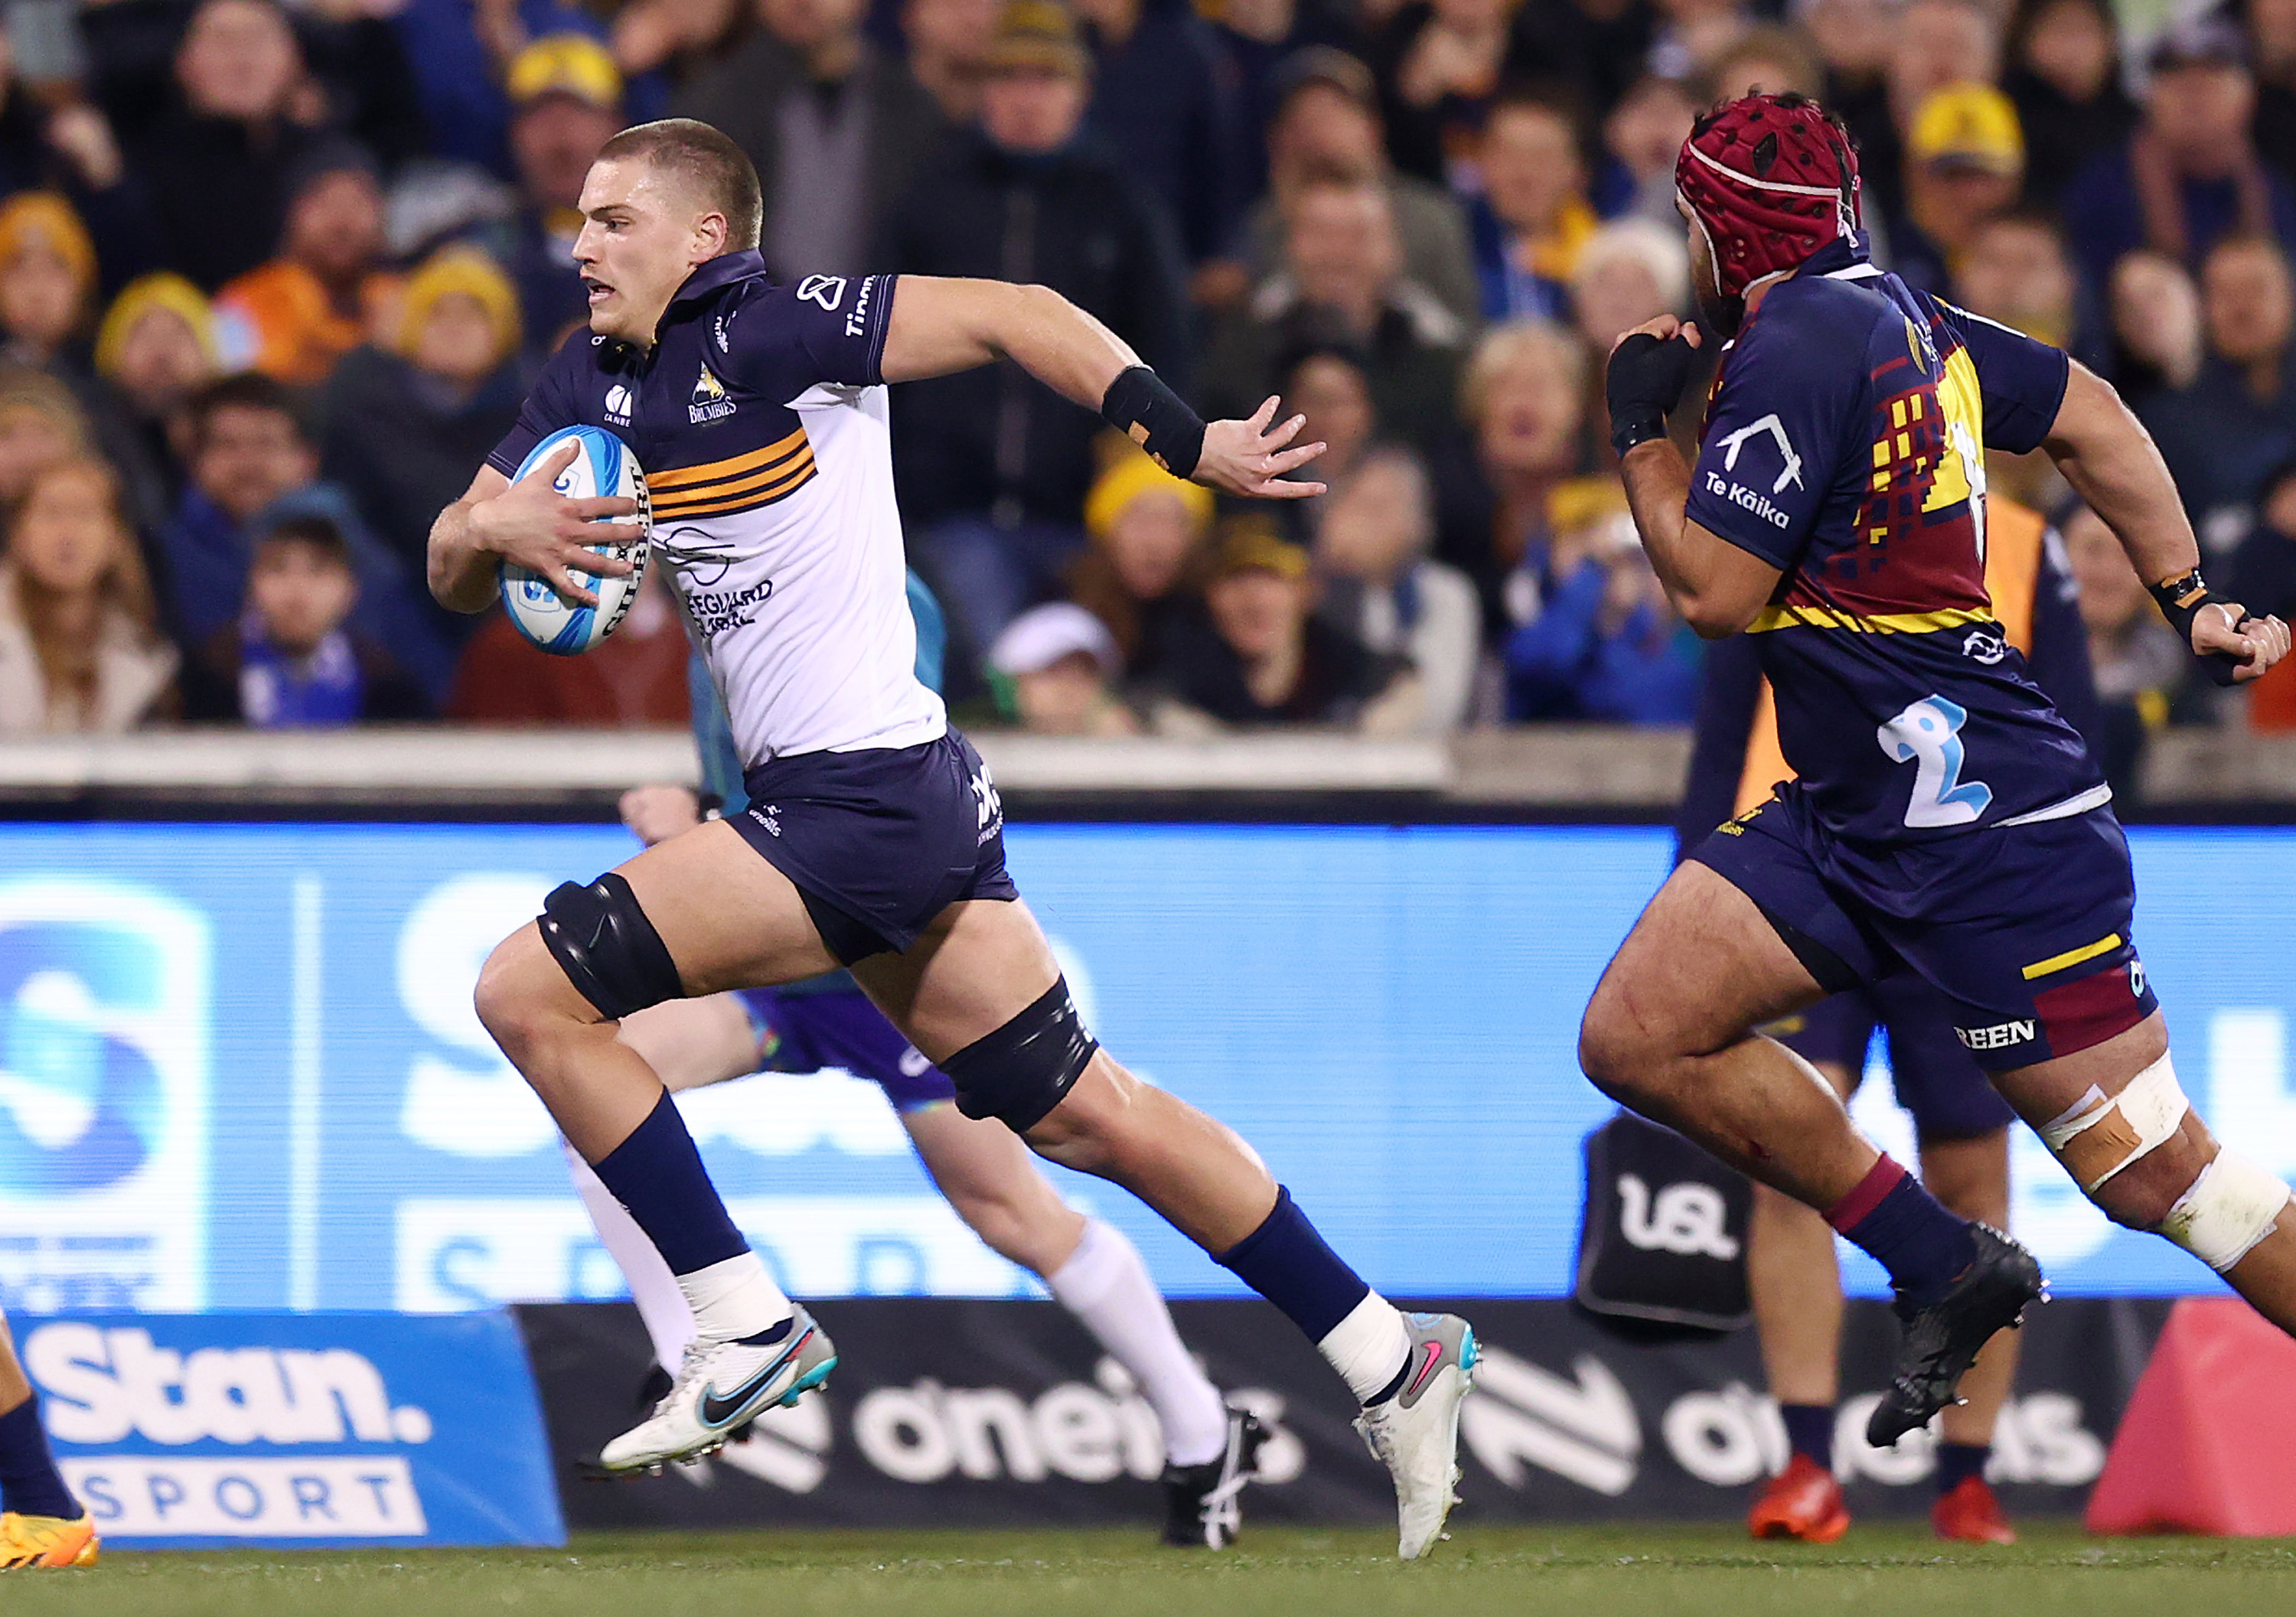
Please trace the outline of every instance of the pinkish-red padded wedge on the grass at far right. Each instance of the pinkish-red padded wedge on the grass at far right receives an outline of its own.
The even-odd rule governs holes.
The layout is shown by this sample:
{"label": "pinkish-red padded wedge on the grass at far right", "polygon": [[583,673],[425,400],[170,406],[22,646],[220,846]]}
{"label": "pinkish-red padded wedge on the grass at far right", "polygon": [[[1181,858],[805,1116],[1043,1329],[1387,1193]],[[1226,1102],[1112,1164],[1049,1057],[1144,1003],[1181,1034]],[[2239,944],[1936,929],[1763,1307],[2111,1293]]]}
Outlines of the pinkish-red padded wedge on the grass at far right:
{"label": "pinkish-red padded wedge on the grass at far right", "polygon": [[2089,1532],[2296,1534],[2296,1341],[2239,1298],[2183,1298],[2112,1436]]}

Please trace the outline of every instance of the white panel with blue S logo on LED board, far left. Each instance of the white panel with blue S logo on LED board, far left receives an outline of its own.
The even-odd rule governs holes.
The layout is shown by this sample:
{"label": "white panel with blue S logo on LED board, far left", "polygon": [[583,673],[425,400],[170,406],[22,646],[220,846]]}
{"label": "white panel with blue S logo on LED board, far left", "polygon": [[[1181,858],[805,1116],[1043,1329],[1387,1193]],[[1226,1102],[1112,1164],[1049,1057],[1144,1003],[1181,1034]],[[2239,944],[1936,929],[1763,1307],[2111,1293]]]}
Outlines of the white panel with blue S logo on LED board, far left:
{"label": "white panel with blue S logo on LED board, far left", "polygon": [[0,1309],[207,1305],[209,923],[0,884]]}

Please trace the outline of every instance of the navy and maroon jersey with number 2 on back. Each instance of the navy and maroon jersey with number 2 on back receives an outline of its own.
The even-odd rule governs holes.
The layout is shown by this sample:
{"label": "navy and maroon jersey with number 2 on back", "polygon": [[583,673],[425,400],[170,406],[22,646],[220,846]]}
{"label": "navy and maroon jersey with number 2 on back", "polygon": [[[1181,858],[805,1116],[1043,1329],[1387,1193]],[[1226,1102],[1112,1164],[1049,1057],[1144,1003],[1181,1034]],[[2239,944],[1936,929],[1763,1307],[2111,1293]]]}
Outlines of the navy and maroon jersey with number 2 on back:
{"label": "navy and maroon jersey with number 2 on back", "polygon": [[1837,241],[1724,349],[1690,519],[1784,570],[1750,634],[1821,825],[1922,841],[2108,802],[1986,595],[1984,448],[2041,443],[2060,349]]}

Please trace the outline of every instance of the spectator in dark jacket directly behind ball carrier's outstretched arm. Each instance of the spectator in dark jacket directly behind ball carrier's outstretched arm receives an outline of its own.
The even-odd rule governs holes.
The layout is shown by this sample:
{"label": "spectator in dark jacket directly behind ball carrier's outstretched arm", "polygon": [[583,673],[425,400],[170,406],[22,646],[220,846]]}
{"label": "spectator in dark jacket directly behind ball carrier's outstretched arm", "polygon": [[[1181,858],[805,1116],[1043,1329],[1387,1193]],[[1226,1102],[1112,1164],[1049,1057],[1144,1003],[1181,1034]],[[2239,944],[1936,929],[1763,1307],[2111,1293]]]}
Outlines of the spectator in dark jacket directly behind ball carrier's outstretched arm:
{"label": "spectator in dark jacket directly behind ball carrier's outstretched arm", "polygon": [[[980,129],[893,209],[884,269],[1035,280],[1187,384],[1187,294],[1171,225],[1088,140],[1088,62],[1068,14],[1017,0],[999,23]],[[914,381],[893,409],[912,558],[971,657],[1068,567],[1100,423],[1015,365]],[[1258,404],[1258,400],[1254,400]]]}

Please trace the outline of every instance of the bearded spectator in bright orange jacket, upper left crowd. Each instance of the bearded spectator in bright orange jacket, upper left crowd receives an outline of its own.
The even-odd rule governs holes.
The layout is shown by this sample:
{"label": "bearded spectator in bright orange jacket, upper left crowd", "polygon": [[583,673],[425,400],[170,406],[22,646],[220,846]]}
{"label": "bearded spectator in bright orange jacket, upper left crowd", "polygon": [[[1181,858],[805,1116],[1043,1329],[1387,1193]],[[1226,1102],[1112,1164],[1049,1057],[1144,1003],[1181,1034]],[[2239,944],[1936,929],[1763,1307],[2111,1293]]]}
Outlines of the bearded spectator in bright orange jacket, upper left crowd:
{"label": "bearded spectator in bright orange jacket, upper left crowd", "polygon": [[225,285],[216,315],[246,333],[255,370],[315,388],[388,324],[400,278],[381,260],[374,161],[347,140],[326,142],[287,181],[280,255]]}

